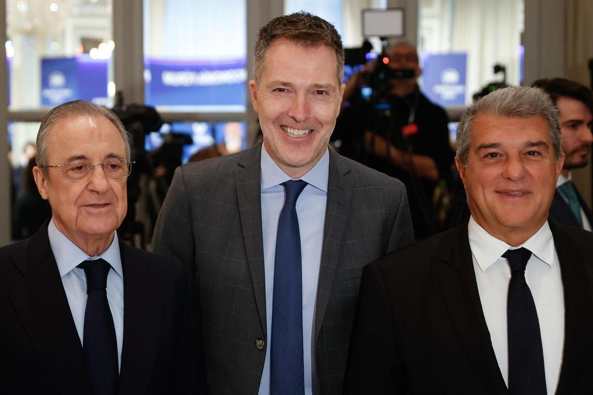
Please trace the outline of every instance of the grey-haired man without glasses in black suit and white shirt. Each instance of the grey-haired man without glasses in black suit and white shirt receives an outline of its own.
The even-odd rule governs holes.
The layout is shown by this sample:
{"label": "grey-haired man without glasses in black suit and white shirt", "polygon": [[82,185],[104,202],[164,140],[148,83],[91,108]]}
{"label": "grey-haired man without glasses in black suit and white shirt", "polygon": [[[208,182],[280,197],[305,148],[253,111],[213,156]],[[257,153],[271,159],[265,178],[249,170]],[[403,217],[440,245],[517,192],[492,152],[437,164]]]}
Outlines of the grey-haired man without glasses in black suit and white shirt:
{"label": "grey-haired man without glasses in black suit and white shirt", "polygon": [[471,217],[365,268],[346,393],[591,393],[593,236],[547,220],[556,108],[500,89],[457,139]]}

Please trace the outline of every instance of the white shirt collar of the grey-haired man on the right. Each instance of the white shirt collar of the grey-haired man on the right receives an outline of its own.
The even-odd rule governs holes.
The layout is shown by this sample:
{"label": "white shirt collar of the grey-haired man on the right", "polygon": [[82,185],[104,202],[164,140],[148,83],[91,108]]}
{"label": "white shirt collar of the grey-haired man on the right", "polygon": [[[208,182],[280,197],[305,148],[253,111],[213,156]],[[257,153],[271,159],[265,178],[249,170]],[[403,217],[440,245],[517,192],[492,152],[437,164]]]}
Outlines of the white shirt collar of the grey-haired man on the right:
{"label": "white shirt collar of the grey-haired man on the right", "polygon": [[547,221],[541,226],[540,230],[518,247],[511,247],[502,240],[490,235],[474,220],[473,216],[470,217],[467,224],[467,234],[470,240],[471,253],[483,272],[498,261],[506,250],[521,247],[527,248],[547,265],[552,266],[554,264],[554,237]]}

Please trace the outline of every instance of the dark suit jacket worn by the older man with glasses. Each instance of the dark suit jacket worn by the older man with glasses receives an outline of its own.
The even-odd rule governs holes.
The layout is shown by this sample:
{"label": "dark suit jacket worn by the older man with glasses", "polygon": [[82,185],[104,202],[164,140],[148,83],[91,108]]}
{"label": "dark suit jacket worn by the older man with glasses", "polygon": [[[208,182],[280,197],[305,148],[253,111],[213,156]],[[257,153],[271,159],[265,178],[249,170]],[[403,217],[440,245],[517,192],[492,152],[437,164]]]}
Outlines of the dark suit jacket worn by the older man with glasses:
{"label": "dark suit jacket worn by the older man with glasses", "polygon": [[[2,394],[91,394],[47,223],[30,239],[0,248]],[[120,254],[119,394],[193,393],[199,353],[189,275],[164,257],[123,243]]]}

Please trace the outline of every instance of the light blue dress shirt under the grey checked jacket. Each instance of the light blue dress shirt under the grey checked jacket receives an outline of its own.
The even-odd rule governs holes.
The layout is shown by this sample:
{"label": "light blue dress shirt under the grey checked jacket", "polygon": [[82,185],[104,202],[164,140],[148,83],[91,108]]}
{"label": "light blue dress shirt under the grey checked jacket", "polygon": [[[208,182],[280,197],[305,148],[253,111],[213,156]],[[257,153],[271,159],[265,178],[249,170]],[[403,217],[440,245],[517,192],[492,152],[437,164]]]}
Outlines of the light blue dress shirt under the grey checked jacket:
{"label": "light blue dress shirt under the grey checked jacket", "polygon": [[[323,155],[317,165],[300,179],[307,187],[297,200],[297,216],[301,233],[302,259],[302,342],[305,363],[305,394],[313,393],[314,375],[314,316],[317,298],[317,280],[321,265],[323,246],[323,224],[327,204],[327,183],[329,181],[329,152]],[[274,257],[276,254],[276,233],[278,218],[284,205],[282,182],[292,179],[270,158],[262,144],[262,230],[263,256],[266,277],[266,327],[267,349],[263,365],[259,395],[270,393],[270,339],[272,336],[272,298],[274,292]]]}

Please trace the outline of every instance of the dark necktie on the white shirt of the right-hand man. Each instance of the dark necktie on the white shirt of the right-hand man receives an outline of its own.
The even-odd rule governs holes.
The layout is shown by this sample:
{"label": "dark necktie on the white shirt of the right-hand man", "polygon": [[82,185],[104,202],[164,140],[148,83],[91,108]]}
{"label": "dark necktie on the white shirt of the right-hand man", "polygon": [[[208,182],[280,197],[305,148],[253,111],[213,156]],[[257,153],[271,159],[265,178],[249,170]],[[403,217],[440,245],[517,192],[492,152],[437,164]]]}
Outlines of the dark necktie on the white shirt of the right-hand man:
{"label": "dark necktie on the white shirt of the right-hand man", "polygon": [[509,392],[512,395],[545,395],[546,372],[540,322],[531,290],[525,281],[525,268],[531,251],[518,248],[508,250],[502,256],[511,266],[507,300]]}

